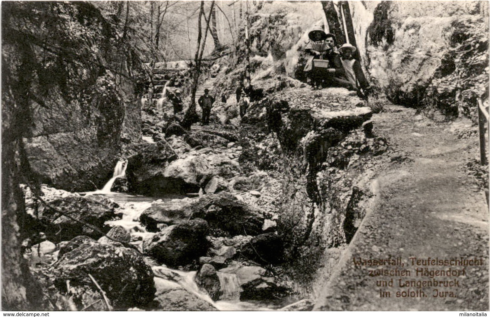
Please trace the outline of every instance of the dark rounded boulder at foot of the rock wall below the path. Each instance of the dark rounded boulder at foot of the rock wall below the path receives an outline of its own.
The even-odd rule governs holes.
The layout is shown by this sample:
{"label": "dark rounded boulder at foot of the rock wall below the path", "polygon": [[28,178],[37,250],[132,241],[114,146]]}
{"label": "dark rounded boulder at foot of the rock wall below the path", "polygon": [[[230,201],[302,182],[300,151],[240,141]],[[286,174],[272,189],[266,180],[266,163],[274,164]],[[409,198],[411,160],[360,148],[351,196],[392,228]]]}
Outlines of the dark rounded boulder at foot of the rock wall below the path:
{"label": "dark rounded boulder at foot of the rock wall below the path", "polygon": [[241,254],[259,264],[278,264],[284,260],[284,243],[275,233],[253,237],[242,247]]}

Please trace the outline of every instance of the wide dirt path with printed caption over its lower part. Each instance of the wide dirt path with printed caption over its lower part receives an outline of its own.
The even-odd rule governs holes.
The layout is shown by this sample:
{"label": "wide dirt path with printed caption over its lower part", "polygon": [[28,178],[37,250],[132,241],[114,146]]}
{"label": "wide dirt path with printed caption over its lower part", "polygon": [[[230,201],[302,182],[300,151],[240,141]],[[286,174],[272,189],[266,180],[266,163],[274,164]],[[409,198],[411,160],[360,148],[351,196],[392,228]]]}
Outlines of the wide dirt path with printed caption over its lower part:
{"label": "wide dirt path with printed caption over its lower part", "polygon": [[[469,122],[435,123],[415,110],[390,106],[373,115],[374,132],[388,136],[398,151],[390,169],[373,183],[376,198],[343,258],[319,292],[315,310],[488,310],[489,212],[485,195],[465,165],[479,158],[478,136],[460,139],[451,127]],[[398,155],[399,154],[399,155]],[[353,259],[401,257],[402,265],[355,266]],[[473,259],[482,266],[417,266],[419,259]],[[404,281],[432,281],[416,269],[462,270],[460,277],[435,276],[459,281],[459,287],[404,287]],[[369,270],[409,270],[411,276],[369,276]],[[461,273],[460,273],[461,274]],[[377,281],[393,286],[377,286]],[[400,284],[399,279],[402,280]],[[382,283],[382,282],[381,282]],[[456,283],[458,284],[458,283]],[[380,289],[391,297],[380,297]],[[396,297],[410,289],[417,297]],[[455,297],[433,297],[453,292]],[[418,291],[418,292],[417,292]],[[423,293],[422,293],[423,292]],[[418,294],[417,294],[418,293]],[[403,295],[403,293],[400,293]]]}

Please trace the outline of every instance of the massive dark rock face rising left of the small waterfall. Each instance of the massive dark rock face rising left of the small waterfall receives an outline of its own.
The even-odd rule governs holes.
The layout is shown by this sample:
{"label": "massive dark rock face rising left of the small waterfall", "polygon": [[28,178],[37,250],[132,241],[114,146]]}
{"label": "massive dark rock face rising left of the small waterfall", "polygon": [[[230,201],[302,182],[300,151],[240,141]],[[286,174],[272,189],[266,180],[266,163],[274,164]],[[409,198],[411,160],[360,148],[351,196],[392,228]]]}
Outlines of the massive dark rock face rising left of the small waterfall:
{"label": "massive dark rock face rising left of the small waterfall", "polygon": [[22,132],[31,170],[57,188],[101,188],[121,144],[141,138],[131,65],[117,68],[110,24],[88,3],[2,9],[11,12],[2,24],[2,107],[28,109],[11,128]]}

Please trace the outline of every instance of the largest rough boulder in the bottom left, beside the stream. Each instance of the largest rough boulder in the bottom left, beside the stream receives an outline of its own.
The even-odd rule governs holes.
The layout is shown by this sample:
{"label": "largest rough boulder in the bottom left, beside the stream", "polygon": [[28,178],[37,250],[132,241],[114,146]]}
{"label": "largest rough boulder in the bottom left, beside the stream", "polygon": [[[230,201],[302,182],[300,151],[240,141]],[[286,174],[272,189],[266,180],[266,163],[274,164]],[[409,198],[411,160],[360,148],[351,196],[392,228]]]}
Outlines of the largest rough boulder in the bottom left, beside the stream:
{"label": "largest rough boulder in the bottom left, beside the stream", "polygon": [[[88,274],[115,309],[145,306],[155,294],[153,272],[138,251],[95,241],[64,253],[45,273],[62,292],[66,292],[67,280],[70,280],[73,301],[79,303],[79,309],[91,304],[83,297],[87,290],[98,293],[98,287]],[[100,294],[96,298],[100,299]]]}

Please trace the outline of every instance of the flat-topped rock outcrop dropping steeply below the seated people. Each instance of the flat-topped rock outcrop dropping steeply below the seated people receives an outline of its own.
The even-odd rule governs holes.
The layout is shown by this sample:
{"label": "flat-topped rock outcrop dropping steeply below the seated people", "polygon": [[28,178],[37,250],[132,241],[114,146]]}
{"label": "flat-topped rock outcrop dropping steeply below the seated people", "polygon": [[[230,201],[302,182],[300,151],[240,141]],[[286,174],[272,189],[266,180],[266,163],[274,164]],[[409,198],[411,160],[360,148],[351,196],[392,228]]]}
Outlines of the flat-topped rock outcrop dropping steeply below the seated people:
{"label": "flat-topped rock outcrop dropping steeply below the seated people", "polygon": [[281,151],[278,232],[291,274],[308,290],[319,268],[336,265],[364,218],[373,157],[387,146],[370,133],[371,110],[355,93],[291,83],[297,86],[269,96],[265,117]]}

